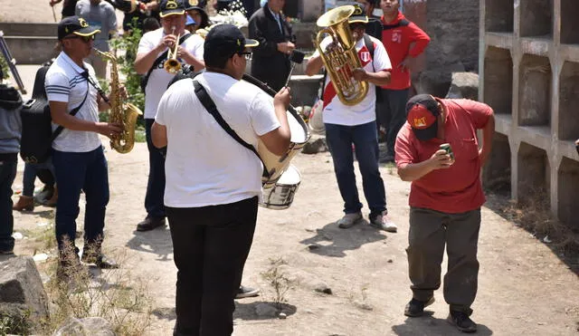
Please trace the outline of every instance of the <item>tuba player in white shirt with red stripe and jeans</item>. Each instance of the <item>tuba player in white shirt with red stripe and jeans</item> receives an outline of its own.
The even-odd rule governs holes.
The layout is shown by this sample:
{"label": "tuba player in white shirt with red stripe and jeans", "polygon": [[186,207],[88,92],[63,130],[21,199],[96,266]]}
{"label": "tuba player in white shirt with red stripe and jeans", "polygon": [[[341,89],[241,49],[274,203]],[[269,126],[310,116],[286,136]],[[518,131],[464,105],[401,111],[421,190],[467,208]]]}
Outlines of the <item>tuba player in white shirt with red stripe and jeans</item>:
{"label": "tuba player in white shirt with red stripe and jeans", "polygon": [[[370,208],[370,225],[389,232],[396,232],[396,226],[388,218],[384,181],[378,169],[378,138],[375,124],[375,85],[386,85],[390,82],[392,68],[384,45],[374,37],[365,36],[365,24],[368,22],[362,5],[356,5],[356,12],[349,17],[350,29],[356,41],[356,52],[362,68],[353,70],[356,81],[368,82],[368,92],[363,101],[354,106],[346,106],[338,97],[334,83],[329,75],[324,87],[323,119],[326,126],[327,145],[334,159],[337,186],[344,199],[345,216],[337,221],[341,228],[349,228],[362,219],[362,203],[358,197],[356,175],[354,174],[354,155],[362,174],[365,199]],[[372,45],[367,46],[365,40]],[[331,37],[321,43],[325,50]],[[369,49],[374,49],[372,54]],[[309,59],[306,68],[308,75],[319,72],[323,66],[318,52]]]}

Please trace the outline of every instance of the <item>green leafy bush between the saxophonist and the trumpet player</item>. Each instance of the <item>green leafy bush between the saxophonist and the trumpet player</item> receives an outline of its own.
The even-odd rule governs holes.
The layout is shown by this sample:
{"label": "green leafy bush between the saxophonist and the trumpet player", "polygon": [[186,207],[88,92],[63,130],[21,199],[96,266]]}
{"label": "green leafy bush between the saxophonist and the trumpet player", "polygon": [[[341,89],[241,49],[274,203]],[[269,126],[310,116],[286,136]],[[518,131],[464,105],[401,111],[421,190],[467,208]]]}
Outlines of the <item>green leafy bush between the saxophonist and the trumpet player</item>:
{"label": "green leafy bush between the saxophonist and the trumpet player", "polygon": [[[145,110],[145,94],[141,91],[141,75],[135,71],[135,58],[137,57],[138,42],[143,36],[143,31],[138,28],[137,18],[133,19],[130,33],[111,41],[113,50],[122,51],[117,55],[119,72],[125,77],[124,85],[127,88],[127,101]],[[144,125],[142,116],[138,118],[138,125]]]}

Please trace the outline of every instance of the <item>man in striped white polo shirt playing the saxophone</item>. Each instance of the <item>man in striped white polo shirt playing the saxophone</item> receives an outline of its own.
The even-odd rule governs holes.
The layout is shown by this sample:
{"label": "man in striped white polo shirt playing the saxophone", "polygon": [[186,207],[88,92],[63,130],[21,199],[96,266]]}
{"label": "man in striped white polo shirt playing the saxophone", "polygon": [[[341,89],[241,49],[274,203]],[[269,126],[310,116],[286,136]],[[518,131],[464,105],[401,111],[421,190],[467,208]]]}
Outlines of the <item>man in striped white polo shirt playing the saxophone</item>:
{"label": "man in striped white polo shirt playing the saxophone", "polygon": [[[101,251],[105,213],[109,203],[109,173],[99,134],[118,135],[118,124],[100,122],[99,111],[109,103],[98,93],[99,82],[89,63],[83,62],[92,51],[100,30],[78,16],[64,18],[58,24],[62,52],[46,72],[45,91],[50,104],[52,130],[62,132],[52,141],[52,165],[58,185],[56,203],[56,240],[60,253],[59,276],[64,279],[70,267],[79,264],[74,244],[76,219],[79,216],[81,191],[86,198],[84,248],[82,261],[100,268],[116,268]],[[77,110],[72,115],[71,111]]]}

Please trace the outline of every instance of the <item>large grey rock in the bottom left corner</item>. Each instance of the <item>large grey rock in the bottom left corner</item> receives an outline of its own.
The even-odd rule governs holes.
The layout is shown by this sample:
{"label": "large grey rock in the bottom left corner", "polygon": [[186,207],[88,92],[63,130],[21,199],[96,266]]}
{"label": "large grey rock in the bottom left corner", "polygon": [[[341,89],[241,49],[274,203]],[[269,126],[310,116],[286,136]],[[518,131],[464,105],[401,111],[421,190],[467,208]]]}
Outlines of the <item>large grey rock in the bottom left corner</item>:
{"label": "large grey rock in the bottom left corner", "polygon": [[33,258],[16,256],[0,263],[0,314],[34,323],[48,317],[48,296]]}

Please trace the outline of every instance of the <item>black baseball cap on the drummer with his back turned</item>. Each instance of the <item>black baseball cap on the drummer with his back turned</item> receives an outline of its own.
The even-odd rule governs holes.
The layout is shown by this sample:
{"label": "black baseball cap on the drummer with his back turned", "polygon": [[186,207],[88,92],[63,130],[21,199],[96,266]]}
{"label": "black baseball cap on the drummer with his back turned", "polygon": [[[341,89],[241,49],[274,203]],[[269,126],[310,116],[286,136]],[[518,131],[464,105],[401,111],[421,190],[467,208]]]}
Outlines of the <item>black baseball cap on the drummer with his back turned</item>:
{"label": "black baseball cap on the drummer with his back turned", "polygon": [[246,47],[255,47],[260,43],[246,39],[242,31],[233,24],[218,24],[205,37],[204,60],[221,58],[224,55],[242,53]]}

